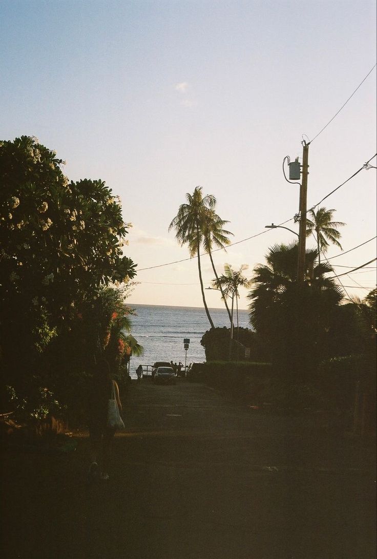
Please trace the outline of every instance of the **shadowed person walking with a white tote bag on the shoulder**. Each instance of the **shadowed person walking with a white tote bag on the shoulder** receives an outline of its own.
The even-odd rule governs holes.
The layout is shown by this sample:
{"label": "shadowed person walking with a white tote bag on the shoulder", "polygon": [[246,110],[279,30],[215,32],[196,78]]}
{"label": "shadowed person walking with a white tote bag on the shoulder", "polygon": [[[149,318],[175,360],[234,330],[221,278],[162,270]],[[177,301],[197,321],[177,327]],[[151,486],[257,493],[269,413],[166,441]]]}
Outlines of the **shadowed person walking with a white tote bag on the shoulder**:
{"label": "shadowed person walking with a white tote bag on the shoulder", "polygon": [[119,388],[110,376],[109,363],[106,359],[99,358],[94,367],[88,394],[89,435],[91,442],[89,481],[94,481],[98,477],[102,480],[109,479],[108,470],[111,447],[116,431],[114,428],[107,427],[108,401],[112,398],[113,389],[119,411],[122,411]]}

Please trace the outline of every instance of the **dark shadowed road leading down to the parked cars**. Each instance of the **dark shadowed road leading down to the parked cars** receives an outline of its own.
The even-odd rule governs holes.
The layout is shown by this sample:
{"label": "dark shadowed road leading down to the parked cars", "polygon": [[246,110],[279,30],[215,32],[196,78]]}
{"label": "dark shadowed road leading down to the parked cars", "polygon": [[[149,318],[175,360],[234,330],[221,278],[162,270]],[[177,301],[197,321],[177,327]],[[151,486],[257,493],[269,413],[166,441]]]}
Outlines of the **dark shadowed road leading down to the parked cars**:
{"label": "dark shadowed road leading down to the parked cars", "polygon": [[3,559],[373,559],[374,451],[201,385],[133,381],[108,482],[89,440],[2,456]]}

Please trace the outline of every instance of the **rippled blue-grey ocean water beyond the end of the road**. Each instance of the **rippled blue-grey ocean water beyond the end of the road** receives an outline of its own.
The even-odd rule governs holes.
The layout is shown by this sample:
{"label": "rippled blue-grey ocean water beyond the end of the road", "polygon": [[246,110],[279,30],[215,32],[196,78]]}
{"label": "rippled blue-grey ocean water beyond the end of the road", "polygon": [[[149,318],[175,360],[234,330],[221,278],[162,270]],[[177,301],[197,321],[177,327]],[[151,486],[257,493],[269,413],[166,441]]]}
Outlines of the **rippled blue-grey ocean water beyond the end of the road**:
{"label": "rippled blue-grey ocean water beyond the end of the road", "polygon": [[[159,305],[127,305],[137,316],[130,316],[131,334],[144,348],[142,357],[131,357],[130,375],[136,378],[139,364],[152,365],[155,361],[181,361],[185,364],[183,338],[190,339],[187,349],[187,365],[205,361],[204,347],[200,345],[202,335],[210,329],[206,312],[197,307],[171,307]],[[210,309],[215,326],[229,327],[226,309]],[[236,313],[234,311],[234,324]],[[239,311],[239,325],[249,327],[249,312]]]}

